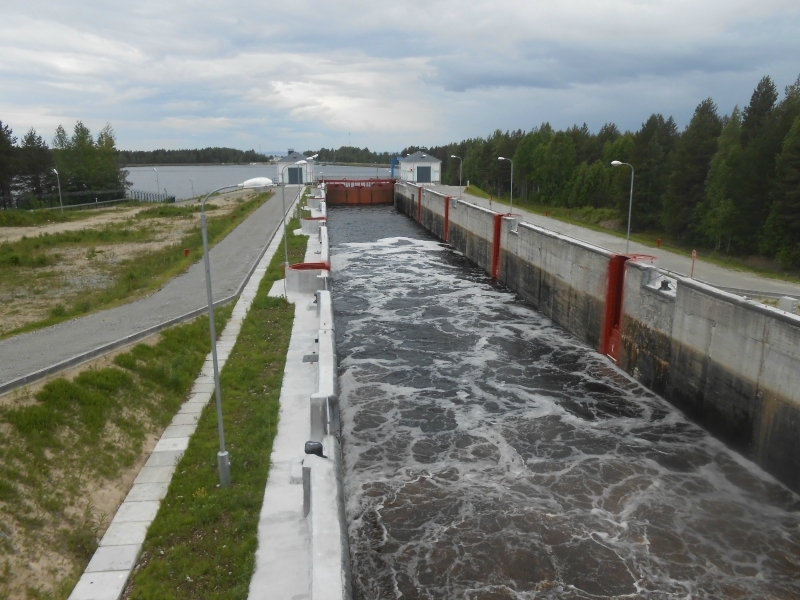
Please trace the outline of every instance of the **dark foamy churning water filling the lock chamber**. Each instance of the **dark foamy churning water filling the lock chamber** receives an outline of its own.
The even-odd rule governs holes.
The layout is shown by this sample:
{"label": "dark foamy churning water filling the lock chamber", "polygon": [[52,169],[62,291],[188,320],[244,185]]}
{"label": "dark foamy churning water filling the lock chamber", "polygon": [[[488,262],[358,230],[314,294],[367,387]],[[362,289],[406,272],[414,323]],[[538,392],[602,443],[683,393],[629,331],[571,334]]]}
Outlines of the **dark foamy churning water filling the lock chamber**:
{"label": "dark foamy churning water filling the lock chamber", "polygon": [[799,598],[800,498],[386,207],[334,209],[357,598]]}

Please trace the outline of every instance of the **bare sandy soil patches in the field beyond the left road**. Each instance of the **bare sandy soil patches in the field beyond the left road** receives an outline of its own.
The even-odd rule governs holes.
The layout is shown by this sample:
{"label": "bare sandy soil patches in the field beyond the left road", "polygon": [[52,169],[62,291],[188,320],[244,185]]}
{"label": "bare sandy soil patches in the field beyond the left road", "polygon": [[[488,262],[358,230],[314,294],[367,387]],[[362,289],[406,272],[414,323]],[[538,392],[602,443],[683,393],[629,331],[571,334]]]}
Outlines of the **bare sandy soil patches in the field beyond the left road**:
{"label": "bare sandy soil patches in the field beyond the left road", "polygon": [[[243,196],[241,192],[236,192],[214,197],[207,204],[217,208],[209,215],[216,217],[228,214],[250,195]],[[115,267],[121,261],[177,244],[200,223],[199,213],[136,219],[136,214],[146,208],[150,207],[108,210],[80,221],[50,223],[39,227],[0,227],[0,243],[45,233],[103,229],[114,224],[149,234],[146,241],[111,243],[91,248],[85,244],[59,246],[53,251],[58,255],[58,260],[52,266],[19,267],[15,277],[0,278],[0,335],[47,318],[59,305],[71,306],[87,289],[109,285]]]}

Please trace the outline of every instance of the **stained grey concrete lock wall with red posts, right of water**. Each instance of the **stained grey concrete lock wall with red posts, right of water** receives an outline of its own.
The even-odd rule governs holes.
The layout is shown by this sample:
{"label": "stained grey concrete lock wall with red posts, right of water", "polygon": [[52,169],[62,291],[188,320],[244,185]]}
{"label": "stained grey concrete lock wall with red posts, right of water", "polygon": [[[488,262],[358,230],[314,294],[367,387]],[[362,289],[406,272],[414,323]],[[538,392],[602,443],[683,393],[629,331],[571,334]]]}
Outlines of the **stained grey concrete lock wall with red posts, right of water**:
{"label": "stained grey concrete lock wall with red posts, right of water", "polygon": [[[395,204],[800,490],[800,317],[671,276],[652,257],[616,255],[408,182],[396,185]],[[619,346],[610,352],[615,306]]]}

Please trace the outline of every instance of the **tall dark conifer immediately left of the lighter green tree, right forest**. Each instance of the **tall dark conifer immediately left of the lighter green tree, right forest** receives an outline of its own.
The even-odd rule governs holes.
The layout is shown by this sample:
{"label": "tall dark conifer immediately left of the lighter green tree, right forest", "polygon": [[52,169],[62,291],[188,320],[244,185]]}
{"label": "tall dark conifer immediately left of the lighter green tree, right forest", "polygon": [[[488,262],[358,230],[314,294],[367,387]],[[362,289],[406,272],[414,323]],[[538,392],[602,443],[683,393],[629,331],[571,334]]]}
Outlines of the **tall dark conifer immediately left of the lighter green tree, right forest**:
{"label": "tall dark conifer immediately left of the lighter green tree, right forest", "polygon": [[717,151],[722,119],[711,98],[695,109],[686,130],[675,145],[672,173],[664,194],[662,222],[672,234],[691,237],[695,209],[705,195],[711,159]]}

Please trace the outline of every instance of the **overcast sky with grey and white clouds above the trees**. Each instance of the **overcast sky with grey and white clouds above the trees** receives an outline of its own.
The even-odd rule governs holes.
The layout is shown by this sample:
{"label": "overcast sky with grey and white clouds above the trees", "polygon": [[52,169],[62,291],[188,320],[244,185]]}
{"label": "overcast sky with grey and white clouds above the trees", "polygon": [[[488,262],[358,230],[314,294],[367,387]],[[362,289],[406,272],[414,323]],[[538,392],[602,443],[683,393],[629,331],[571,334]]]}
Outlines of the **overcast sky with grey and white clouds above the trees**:
{"label": "overcast sky with grey and white clouds above the trees", "polygon": [[0,120],[118,147],[374,150],[749,101],[798,0],[0,0]]}

